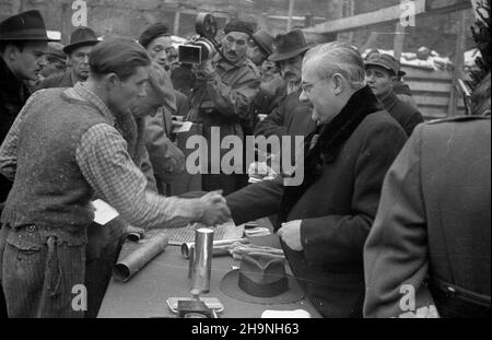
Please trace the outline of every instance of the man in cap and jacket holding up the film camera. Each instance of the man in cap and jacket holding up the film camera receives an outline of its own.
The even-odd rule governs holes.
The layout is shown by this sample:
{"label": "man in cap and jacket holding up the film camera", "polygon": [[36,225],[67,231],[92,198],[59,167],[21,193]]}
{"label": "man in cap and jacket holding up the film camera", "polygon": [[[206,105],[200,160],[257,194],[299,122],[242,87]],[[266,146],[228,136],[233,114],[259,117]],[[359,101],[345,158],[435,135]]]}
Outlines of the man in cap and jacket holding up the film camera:
{"label": "man in cap and jacket holding up the film camera", "polygon": [[[190,120],[203,126],[203,137],[211,145],[212,127],[220,128],[220,140],[226,136],[238,136],[244,141],[244,131],[253,126],[250,105],[260,84],[256,66],[246,57],[248,42],[253,34],[250,24],[234,20],[224,27],[222,47],[215,58],[196,68],[197,81],[191,94]],[[210,149],[210,148],[209,148]],[[229,150],[221,149],[221,160]],[[231,194],[247,184],[247,175],[210,174],[202,175],[202,189],[223,189]],[[216,164],[214,164],[216,166]]]}

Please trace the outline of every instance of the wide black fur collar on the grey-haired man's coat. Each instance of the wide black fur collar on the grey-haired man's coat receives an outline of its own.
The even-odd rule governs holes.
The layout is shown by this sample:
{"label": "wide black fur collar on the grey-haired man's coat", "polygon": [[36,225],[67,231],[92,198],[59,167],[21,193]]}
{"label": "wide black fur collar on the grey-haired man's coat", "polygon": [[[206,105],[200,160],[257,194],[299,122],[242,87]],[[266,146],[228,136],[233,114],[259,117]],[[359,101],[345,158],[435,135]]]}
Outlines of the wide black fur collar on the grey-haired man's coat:
{"label": "wide black fur collar on the grey-haired man's coat", "polygon": [[304,180],[300,186],[286,186],[280,206],[280,221],[285,222],[289,212],[304,192],[321,176],[323,165],[331,164],[341,148],[362,120],[383,109],[368,86],[355,92],[330,122],[319,125],[304,143]]}

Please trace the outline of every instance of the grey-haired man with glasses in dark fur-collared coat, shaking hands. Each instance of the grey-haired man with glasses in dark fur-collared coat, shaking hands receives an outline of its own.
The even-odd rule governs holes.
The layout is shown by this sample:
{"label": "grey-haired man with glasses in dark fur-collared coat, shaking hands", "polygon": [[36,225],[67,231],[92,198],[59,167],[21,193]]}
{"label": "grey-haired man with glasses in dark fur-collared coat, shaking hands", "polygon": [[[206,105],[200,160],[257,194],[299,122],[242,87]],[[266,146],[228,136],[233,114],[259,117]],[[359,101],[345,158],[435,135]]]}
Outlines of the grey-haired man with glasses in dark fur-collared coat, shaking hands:
{"label": "grey-haired man with glasses in dark fur-collared coat, shaking hands", "polygon": [[307,51],[302,101],[318,127],[305,143],[304,181],[253,184],[226,197],[236,223],[280,213],[274,230],[307,297],[325,317],[361,317],[362,249],[376,214],[384,175],[406,141],[368,86],[351,46]]}

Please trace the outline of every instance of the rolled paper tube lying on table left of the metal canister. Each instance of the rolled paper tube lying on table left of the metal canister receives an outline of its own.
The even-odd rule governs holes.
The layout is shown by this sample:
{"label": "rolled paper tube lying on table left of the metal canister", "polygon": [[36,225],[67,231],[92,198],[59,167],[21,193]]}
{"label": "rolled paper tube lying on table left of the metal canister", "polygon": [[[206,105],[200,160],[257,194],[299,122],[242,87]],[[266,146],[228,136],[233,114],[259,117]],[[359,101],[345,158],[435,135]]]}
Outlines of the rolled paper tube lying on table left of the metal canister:
{"label": "rolled paper tube lying on table left of the metal canister", "polygon": [[164,251],[168,238],[164,234],[148,239],[137,250],[118,261],[113,268],[113,277],[128,281],[136,272],[149,263],[154,257]]}

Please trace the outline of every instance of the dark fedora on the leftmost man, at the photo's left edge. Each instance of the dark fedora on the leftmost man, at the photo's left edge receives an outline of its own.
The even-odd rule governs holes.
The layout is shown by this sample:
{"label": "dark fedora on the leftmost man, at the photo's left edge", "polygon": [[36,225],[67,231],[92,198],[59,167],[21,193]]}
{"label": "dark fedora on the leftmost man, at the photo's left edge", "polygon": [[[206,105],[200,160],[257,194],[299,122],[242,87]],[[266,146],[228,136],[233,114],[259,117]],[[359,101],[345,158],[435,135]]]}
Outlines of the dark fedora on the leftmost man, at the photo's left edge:
{"label": "dark fedora on the leftmost man, at the photo's left edge", "polygon": [[45,21],[37,10],[22,12],[2,21],[0,40],[57,42],[48,38]]}

